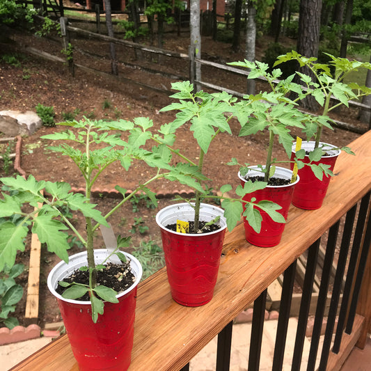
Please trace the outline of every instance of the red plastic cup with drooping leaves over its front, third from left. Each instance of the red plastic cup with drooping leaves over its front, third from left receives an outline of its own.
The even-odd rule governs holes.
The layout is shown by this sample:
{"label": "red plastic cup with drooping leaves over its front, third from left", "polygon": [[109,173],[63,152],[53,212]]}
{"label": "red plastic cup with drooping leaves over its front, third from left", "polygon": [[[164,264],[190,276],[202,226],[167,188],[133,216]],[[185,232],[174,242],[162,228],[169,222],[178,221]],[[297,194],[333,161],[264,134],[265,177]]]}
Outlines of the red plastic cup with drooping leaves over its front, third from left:
{"label": "red plastic cup with drooping leaves over its front, third from left", "polygon": [[[261,172],[255,170],[256,168],[258,168],[257,166],[251,166],[250,168],[252,169],[252,171],[249,171],[249,176],[262,175]],[[244,180],[244,177],[242,177],[240,174],[238,174],[238,176],[241,180],[242,187],[244,187],[244,183],[246,182],[246,180]],[[287,168],[276,167],[274,176],[291,180],[292,171]],[[294,191],[294,187],[296,187],[296,184],[298,182],[299,177],[297,177],[297,180],[294,183],[290,183],[287,185],[267,186],[265,187],[265,189],[260,189],[251,194],[246,194],[246,196],[244,196],[244,200],[251,201],[252,198],[255,198],[256,202],[262,200],[273,201],[274,203],[277,203],[282,207],[280,210],[277,211],[283,215],[285,220],[287,220],[287,214],[289,212],[292,199],[292,192]],[[272,247],[278,245],[281,242],[283,230],[285,229],[285,223],[278,223],[276,221],[273,221],[266,212],[262,210],[259,211],[262,216],[262,226],[259,233],[253,230],[248,221],[246,221],[246,217],[244,216],[246,241],[260,247]]]}

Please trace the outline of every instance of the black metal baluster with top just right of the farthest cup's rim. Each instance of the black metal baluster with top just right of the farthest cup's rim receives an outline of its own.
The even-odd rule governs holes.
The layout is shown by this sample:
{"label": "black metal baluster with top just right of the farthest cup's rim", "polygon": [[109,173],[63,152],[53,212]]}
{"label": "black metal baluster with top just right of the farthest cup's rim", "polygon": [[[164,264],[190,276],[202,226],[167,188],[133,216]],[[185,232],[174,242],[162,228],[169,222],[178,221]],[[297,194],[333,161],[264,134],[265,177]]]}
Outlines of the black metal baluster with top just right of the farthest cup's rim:
{"label": "black metal baluster with top just right of the farthest cup's rim", "polygon": [[329,237],[327,239],[326,254],[324,255],[324,265],[322,268],[321,284],[319,285],[317,308],[315,310],[315,323],[313,325],[313,334],[310,341],[307,371],[313,371],[315,369],[315,361],[317,358],[319,337],[321,336],[322,320],[324,317],[324,308],[326,306],[327,290],[329,288],[333,253],[335,252],[336,248],[336,238],[338,237],[339,224],[340,221],[337,221],[330,228]]}

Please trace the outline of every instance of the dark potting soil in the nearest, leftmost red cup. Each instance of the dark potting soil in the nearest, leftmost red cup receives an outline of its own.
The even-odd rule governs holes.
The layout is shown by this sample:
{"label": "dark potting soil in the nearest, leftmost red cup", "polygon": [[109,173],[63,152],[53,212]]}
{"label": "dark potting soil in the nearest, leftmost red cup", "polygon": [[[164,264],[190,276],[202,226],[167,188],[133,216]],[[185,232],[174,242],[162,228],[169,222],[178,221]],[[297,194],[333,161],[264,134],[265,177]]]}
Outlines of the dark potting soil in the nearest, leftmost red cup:
{"label": "dark potting soil in the nearest, leftmost red cup", "polygon": [[[117,293],[127,290],[135,282],[135,276],[130,270],[129,262],[123,264],[107,263],[104,269],[97,271],[97,285],[104,285],[115,290]],[[82,283],[89,285],[89,271],[80,271],[76,269],[72,274],[63,279],[67,283]],[[68,287],[58,285],[56,292],[63,294]],[[79,301],[90,301],[88,292],[79,299]]]}

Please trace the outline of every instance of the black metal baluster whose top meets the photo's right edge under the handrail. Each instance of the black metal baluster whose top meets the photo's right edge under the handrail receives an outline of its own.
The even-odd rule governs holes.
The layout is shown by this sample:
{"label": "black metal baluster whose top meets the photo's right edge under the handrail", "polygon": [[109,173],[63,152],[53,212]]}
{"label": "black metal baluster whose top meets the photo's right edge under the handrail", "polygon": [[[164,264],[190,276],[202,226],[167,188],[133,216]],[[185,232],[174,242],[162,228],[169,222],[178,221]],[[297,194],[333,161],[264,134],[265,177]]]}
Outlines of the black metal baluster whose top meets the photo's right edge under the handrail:
{"label": "black metal baluster whose top meets the photo's right edge under the handrail", "polygon": [[358,253],[361,248],[363,230],[365,228],[365,221],[367,217],[368,204],[370,203],[370,193],[362,198],[361,205],[358,211],[358,220],[356,231],[354,232],[354,240],[352,246],[352,253],[349,258],[349,265],[347,271],[347,279],[345,281],[344,291],[342,293],[342,301],[340,306],[340,313],[338,317],[338,326],[336,327],[336,336],[333,341],[332,352],[338,354],[340,350],[342,331],[344,329],[345,318],[347,316],[347,308],[349,305],[349,297],[354,282],[354,274],[356,271]]}

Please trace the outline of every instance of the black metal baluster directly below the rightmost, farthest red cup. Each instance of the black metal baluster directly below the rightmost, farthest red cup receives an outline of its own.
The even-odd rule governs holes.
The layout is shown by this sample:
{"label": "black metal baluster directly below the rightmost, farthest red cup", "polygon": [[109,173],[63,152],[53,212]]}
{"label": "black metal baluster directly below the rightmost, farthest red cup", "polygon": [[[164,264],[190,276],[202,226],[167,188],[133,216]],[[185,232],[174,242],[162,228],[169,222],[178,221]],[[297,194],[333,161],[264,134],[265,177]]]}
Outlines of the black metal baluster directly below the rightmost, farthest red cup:
{"label": "black metal baluster directly below the rightmost, farthest red cup", "polygon": [[312,299],[313,282],[315,280],[315,268],[317,266],[317,257],[319,242],[317,241],[308,248],[308,258],[306,260],[306,275],[304,276],[303,293],[301,294],[297,337],[295,339],[294,355],[292,356],[291,370],[300,370],[301,357],[303,356],[304,340],[306,338],[306,325],[308,323],[308,314],[310,309],[310,299]]}

